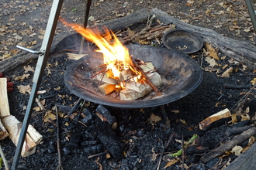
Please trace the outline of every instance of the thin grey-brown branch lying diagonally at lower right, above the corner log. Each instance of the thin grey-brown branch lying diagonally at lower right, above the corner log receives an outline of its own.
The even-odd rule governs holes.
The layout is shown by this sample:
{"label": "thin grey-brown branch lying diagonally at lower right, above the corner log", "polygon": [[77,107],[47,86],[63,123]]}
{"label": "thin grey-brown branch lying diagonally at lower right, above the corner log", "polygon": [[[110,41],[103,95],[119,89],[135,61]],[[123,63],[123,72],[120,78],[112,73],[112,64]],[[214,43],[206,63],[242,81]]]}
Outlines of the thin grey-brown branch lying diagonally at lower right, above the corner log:
{"label": "thin grey-brown branch lying diagonally at lower right, above the corner log", "polygon": [[237,135],[232,140],[227,141],[225,144],[220,145],[218,148],[213,149],[206,155],[203,155],[201,157],[201,161],[206,163],[212,160],[213,158],[216,158],[217,156],[223,155],[225,151],[230,151],[234,146],[240,145],[244,141],[246,141],[248,138],[251,138],[251,136],[254,136],[256,134],[256,128],[250,128],[247,131],[244,131],[242,134]]}

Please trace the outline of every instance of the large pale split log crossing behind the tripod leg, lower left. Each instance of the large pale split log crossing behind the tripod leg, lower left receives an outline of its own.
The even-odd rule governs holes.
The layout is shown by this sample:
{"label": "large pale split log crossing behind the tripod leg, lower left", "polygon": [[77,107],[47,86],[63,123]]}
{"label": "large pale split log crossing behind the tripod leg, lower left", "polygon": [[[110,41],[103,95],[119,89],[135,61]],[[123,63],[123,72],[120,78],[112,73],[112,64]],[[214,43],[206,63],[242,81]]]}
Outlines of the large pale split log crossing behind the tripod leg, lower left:
{"label": "large pale split log crossing behind the tripod leg, lower left", "polygon": [[[13,144],[17,146],[19,141],[19,134],[22,128],[22,123],[20,123],[16,117],[8,116],[2,119],[2,124],[4,124],[6,130],[9,132],[9,138],[12,140]],[[29,137],[29,134],[26,134],[24,144],[22,146],[22,157],[27,157],[32,155],[36,151],[36,143],[32,138]]]}

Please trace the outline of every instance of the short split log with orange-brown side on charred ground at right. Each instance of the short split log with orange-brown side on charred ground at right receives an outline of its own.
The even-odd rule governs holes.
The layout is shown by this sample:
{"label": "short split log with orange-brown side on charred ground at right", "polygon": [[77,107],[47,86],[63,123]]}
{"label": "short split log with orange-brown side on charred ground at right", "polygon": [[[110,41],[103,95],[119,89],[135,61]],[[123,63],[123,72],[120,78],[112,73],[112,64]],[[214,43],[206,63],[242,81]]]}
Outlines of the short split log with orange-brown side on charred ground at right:
{"label": "short split log with orange-brown side on charred ground at right", "polygon": [[213,124],[213,122],[219,121],[227,117],[231,117],[230,110],[228,109],[221,110],[220,112],[213,114],[207,117],[205,120],[201,121],[199,123],[199,128],[203,131],[206,131],[206,129],[208,129],[209,126]]}

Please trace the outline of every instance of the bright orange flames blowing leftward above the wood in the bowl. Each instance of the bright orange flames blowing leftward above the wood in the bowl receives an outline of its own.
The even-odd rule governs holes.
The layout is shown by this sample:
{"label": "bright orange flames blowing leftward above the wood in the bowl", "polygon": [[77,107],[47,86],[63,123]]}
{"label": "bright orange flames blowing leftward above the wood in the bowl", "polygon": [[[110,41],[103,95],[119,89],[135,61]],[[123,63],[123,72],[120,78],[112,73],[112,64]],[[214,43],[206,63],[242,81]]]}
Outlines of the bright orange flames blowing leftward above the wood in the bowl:
{"label": "bright orange flames blowing leftward above the wood in the bowl", "polygon": [[64,19],[60,18],[60,20],[99,47],[99,50],[96,51],[103,54],[106,70],[112,70],[114,77],[119,77],[121,70],[127,70],[132,65],[128,49],[106,27],[103,28],[104,34],[102,34],[99,29],[83,28],[78,24],[67,23]]}

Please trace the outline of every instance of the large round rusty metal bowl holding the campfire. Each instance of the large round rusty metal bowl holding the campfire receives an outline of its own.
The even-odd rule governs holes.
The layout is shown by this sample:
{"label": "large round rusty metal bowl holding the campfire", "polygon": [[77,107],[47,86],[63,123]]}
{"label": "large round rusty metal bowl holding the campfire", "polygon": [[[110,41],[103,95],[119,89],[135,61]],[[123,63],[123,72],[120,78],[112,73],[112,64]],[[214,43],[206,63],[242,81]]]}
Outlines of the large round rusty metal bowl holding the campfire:
{"label": "large round rusty metal bowl holding the campfire", "polygon": [[67,66],[64,83],[72,93],[96,104],[112,107],[142,108],[155,107],[171,103],[185,97],[195,90],[202,81],[199,65],[185,53],[153,46],[129,45],[129,52],[134,58],[151,61],[157,68],[164,83],[158,89],[162,95],[150,92],[138,100],[119,100],[97,91],[99,80],[91,80],[103,63],[102,53],[88,52],[81,59]]}

